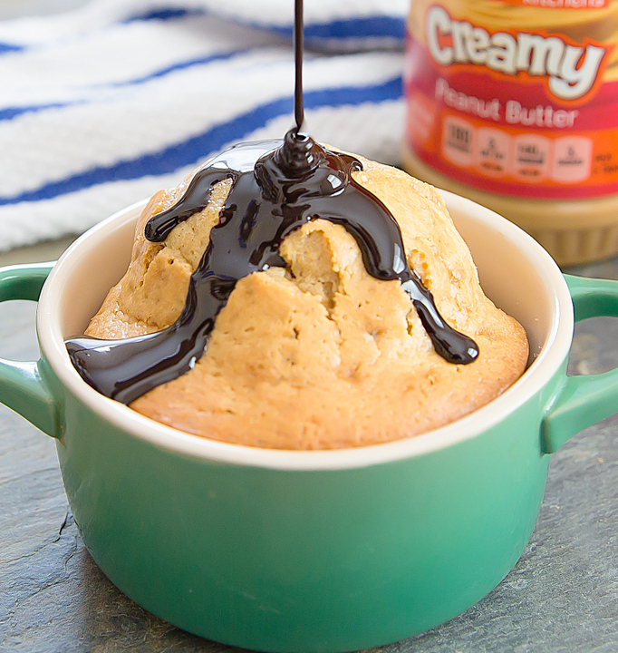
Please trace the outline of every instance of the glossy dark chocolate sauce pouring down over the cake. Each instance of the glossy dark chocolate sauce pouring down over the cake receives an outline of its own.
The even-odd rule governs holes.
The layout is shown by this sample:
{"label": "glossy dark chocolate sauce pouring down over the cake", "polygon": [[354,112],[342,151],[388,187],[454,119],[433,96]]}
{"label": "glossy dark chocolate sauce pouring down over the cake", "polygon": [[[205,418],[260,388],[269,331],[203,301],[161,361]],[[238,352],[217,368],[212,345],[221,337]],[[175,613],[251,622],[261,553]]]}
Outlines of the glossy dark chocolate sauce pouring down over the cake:
{"label": "glossy dark chocolate sauce pouring down over the cake", "polygon": [[[302,0],[296,0],[297,11],[299,5],[302,11]],[[300,44],[298,37],[295,44],[302,47],[302,32]],[[146,224],[146,238],[162,242],[177,225],[205,209],[217,182],[231,180],[208,248],[190,278],[179,319],[147,336],[66,341],[73,365],[101,394],[129,404],[188,372],[204,354],[217,314],[237,280],[268,267],[285,267],[278,253],[281,242],[318,218],[341,224],[352,234],[372,277],[401,281],[439,356],[455,364],[477,358],[475,342],[449,327],[430,291],[410,269],[390,211],[352,178],[352,172],[362,170],[361,161],[328,151],[300,131],[300,80],[295,100],[296,127],[283,142],[252,141],[221,152],[198,171],[176,205]]]}

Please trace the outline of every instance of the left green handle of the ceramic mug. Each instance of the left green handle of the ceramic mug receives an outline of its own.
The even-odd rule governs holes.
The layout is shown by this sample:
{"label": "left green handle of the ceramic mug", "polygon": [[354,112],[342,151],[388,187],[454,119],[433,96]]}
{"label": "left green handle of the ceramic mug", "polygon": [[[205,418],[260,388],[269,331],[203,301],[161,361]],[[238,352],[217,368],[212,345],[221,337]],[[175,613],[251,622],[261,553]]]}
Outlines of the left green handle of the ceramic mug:
{"label": "left green handle of the ceramic mug", "polygon": [[[0,302],[38,301],[54,261],[0,268]],[[19,362],[0,358],[0,402],[21,414],[44,433],[61,437],[59,411],[41,367],[43,361]]]}

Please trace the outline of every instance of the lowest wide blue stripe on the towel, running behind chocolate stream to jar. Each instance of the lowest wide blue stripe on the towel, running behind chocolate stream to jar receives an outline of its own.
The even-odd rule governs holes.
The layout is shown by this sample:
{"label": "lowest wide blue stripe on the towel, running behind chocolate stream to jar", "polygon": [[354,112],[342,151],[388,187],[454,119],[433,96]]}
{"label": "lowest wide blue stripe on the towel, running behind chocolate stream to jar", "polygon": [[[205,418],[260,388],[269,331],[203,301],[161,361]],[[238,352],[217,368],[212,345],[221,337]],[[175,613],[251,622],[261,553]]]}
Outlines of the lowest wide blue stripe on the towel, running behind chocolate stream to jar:
{"label": "lowest wide blue stripe on the towel, running behind chocolate stream to jar", "polygon": [[[375,86],[336,88],[309,91],[304,94],[307,109],[339,107],[363,102],[384,102],[401,98],[401,77]],[[111,166],[99,166],[64,180],[47,183],[37,190],[30,190],[13,197],[0,197],[0,206],[26,201],[51,200],[102,183],[120,180],[136,180],[147,176],[169,174],[196,164],[208,153],[220,151],[225,146],[240,141],[246,134],[264,127],[267,122],[279,116],[290,114],[292,119],[292,97],[287,96],[262,104],[250,112],[237,116],[229,122],[172,145],[154,154],[145,154],[130,161],[118,161]]]}

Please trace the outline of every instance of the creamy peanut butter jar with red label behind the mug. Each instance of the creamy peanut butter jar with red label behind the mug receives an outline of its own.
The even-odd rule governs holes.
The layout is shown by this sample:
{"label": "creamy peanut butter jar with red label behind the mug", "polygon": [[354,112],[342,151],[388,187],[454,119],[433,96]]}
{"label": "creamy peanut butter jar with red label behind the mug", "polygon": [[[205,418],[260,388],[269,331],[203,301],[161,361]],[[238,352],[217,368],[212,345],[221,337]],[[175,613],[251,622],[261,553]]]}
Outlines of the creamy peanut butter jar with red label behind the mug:
{"label": "creamy peanut butter jar with red label behind the mug", "polygon": [[560,265],[618,252],[618,0],[412,0],[404,167]]}

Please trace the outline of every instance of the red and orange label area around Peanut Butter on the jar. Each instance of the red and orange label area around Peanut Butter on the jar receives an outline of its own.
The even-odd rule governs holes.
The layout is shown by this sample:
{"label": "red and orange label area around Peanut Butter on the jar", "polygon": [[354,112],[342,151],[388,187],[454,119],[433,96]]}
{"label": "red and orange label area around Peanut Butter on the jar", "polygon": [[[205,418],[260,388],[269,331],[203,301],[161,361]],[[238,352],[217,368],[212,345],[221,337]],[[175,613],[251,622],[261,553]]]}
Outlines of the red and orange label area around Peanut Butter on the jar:
{"label": "red and orange label area around Peanut Butter on the jar", "polygon": [[440,66],[412,37],[407,56],[407,141],[421,161],[469,186],[519,197],[618,192],[618,82],[597,85],[574,106],[557,101],[543,79]]}

